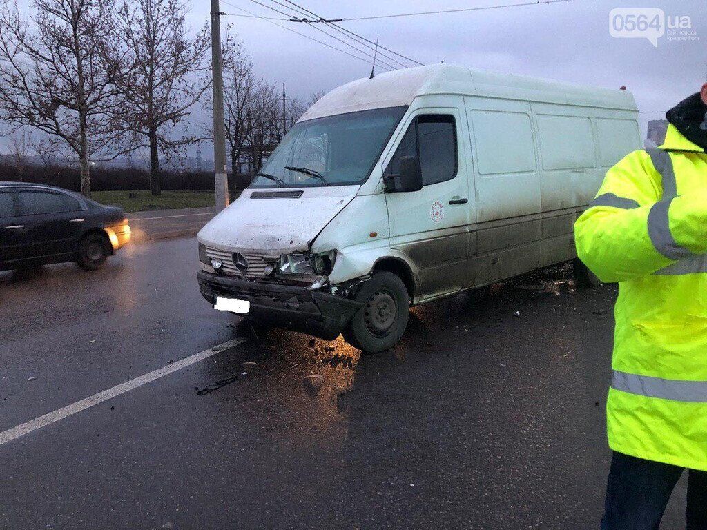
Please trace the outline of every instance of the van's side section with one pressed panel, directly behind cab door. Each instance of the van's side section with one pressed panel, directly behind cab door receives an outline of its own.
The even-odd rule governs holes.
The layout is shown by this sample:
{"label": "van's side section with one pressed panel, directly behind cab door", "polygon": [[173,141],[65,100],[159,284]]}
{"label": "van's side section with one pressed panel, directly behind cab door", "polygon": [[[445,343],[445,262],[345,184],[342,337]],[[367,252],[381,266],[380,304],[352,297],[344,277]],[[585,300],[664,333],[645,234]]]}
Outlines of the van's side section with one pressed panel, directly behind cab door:
{"label": "van's side section with one pressed panel, directly behind cab door", "polygon": [[476,284],[539,263],[541,197],[530,103],[465,97],[477,202]]}

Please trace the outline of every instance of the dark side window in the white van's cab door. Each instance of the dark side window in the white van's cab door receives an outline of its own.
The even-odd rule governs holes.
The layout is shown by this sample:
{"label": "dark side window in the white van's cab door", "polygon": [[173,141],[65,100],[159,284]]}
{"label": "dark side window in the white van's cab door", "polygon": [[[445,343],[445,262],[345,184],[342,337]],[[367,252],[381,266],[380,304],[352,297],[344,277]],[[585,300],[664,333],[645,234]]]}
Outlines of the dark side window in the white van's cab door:
{"label": "dark side window in the white van's cab door", "polygon": [[397,175],[402,156],[420,158],[422,184],[437,184],[457,175],[457,129],[453,116],[423,114],[414,119],[403,136],[385,175]]}

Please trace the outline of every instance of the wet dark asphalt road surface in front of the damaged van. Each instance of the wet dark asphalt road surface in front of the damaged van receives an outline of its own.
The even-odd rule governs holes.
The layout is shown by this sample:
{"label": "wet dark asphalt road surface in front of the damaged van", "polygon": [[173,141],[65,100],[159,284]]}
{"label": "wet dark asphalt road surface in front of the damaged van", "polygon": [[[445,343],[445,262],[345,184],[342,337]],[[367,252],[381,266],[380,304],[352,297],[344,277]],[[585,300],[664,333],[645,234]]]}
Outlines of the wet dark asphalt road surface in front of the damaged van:
{"label": "wet dark asphalt road surface in front of the damaged van", "polygon": [[416,308],[387,353],[276,331],[212,354],[247,330],[196,270],[192,238],[0,273],[0,442],[133,382],[0,443],[0,528],[598,529],[615,288],[553,269]]}

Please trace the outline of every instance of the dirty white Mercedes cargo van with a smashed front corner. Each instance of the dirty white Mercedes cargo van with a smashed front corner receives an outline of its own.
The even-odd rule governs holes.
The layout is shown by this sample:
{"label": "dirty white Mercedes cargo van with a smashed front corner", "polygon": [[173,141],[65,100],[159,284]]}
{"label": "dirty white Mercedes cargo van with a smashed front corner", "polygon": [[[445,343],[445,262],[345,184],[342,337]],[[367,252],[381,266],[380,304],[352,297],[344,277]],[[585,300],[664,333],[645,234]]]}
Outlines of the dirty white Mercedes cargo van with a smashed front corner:
{"label": "dirty white Mercedes cargo van with a smashed front corner", "polygon": [[448,65],[354,81],[199,232],[201,294],[385,350],[411,305],[574,259],[575,219],[640,146],[626,90]]}

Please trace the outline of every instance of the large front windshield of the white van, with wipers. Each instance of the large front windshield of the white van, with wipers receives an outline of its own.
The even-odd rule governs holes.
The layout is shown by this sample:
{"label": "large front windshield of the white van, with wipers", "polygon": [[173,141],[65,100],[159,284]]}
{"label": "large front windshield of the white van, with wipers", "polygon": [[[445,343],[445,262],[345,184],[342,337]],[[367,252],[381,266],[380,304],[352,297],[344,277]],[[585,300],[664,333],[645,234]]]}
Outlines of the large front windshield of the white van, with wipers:
{"label": "large front windshield of the white van, with wipers", "polygon": [[250,187],[361,184],[406,110],[407,107],[363,110],[300,122],[259,170],[267,177],[255,177]]}

